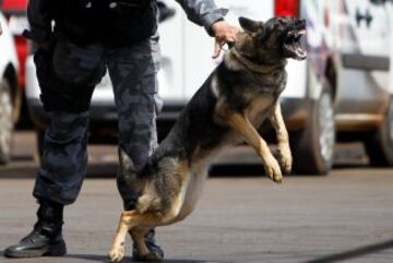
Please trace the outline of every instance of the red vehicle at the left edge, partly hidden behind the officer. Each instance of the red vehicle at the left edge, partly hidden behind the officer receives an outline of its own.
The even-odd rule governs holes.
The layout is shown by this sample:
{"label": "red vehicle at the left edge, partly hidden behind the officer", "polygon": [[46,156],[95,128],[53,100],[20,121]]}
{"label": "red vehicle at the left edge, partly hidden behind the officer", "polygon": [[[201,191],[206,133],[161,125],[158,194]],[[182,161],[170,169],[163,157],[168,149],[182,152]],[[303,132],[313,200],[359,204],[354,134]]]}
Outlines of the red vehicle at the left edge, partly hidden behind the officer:
{"label": "red vehicle at the left edge, partly hidden behind the officer", "polygon": [[15,94],[14,99],[14,120],[20,119],[22,109],[24,86],[25,86],[25,61],[29,53],[29,45],[26,38],[22,36],[22,33],[27,28],[27,0],[0,0],[0,9],[8,20],[9,28],[14,36],[15,48],[17,52],[17,59],[20,64],[19,70],[19,91]]}

